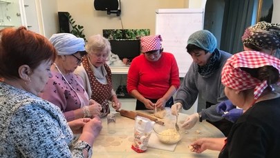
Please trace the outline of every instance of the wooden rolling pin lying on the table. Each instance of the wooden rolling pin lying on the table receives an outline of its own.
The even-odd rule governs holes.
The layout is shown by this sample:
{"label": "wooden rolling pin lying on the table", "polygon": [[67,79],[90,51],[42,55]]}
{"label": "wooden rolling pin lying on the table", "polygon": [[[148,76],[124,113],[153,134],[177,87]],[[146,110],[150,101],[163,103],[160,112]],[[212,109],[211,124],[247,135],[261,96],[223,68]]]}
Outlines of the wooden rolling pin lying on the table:
{"label": "wooden rolling pin lying on the table", "polygon": [[128,110],[116,110],[116,112],[120,112],[120,115],[122,115],[123,117],[128,117],[129,119],[135,119],[135,117],[140,116],[140,117],[145,117],[147,119],[150,119],[151,121],[155,121],[156,124],[160,124],[160,125],[165,124],[163,121],[159,121],[155,117],[144,114],[142,112],[133,112],[133,111],[128,111]]}

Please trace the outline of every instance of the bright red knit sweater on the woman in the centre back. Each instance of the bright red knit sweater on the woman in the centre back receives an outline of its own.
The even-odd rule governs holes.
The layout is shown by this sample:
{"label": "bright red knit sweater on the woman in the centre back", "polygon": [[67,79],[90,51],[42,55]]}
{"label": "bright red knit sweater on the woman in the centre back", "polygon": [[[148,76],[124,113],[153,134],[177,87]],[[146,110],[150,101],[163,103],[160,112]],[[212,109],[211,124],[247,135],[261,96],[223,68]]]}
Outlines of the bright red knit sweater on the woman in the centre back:
{"label": "bright red knit sweater on the woman in the centre back", "polygon": [[162,52],[158,61],[139,55],[131,62],[127,75],[127,91],[138,90],[143,97],[159,99],[170,88],[180,86],[179,70],[174,55]]}

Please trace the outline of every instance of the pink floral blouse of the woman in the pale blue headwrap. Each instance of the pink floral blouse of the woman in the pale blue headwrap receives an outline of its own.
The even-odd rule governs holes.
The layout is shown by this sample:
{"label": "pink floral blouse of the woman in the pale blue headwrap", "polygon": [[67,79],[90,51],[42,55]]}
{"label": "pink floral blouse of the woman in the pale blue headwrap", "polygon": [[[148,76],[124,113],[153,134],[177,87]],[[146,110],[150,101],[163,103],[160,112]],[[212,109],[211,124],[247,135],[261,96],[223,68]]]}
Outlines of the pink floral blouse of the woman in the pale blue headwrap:
{"label": "pink floral blouse of the woman in the pale blue headwrap", "polygon": [[[88,94],[82,87],[82,79],[73,73],[64,76],[68,83],[75,88],[72,90],[62,74],[53,71],[52,74],[53,77],[48,79],[40,97],[58,106],[67,121],[73,121],[75,119],[74,110],[81,108],[81,103],[84,103],[83,106],[88,106],[89,103]],[[82,101],[77,95],[80,95]]]}

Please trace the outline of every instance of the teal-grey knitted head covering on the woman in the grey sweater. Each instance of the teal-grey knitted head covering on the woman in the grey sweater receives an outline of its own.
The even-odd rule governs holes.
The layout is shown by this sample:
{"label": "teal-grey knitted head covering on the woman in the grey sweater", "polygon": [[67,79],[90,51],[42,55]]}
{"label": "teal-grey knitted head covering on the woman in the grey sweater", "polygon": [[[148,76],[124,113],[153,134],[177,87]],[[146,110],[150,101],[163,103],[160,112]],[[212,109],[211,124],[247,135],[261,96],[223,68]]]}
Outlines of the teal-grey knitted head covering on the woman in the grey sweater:
{"label": "teal-grey knitted head covering on the woman in the grey sweater", "polygon": [[217,47],[217,39],[208,30],[199,30],[189,36],[187,44],[194,44],[203,50],[212,53]]}

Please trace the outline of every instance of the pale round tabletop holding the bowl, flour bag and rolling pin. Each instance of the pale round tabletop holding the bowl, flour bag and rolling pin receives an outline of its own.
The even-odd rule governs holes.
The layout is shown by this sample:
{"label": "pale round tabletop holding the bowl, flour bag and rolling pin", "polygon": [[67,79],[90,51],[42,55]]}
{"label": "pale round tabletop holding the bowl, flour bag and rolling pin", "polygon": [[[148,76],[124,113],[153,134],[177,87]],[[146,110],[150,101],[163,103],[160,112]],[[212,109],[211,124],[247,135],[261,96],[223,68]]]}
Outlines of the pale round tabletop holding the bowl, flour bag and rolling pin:
{"label": "pale round tabletop holding the bowl, flour bag and rolling pin", "polygon": [[[153,115],[151,110],[142,110],[141,112]],[[174,117],[174,116],[172,116]],[[180,113],[178,117],[178,123],[181,124],[187,115]],[[147,148],[145,152],[138,153],[131,149],[131,144],[133,141],[134,133],[134,123],[133,119],[127,117],[122,117],[119,113],[115,114],[116,124],[115,133],[110,134],[107,131],[106,117],[102,118],[102,131],[100,136],[97,137],[93,144],[93,157],[94,158],[137,158],[137,157],[147,157],[147,158],[179,158],[179,157],[218,157],[218,151],[206,150],[201,154],[196,154],[191,152],[188,148],[194,140],[200,137],[224,137],[223,133],[218,130],[212,124],[207,123],[207,121],[198,122],[194,128],[187,130],[183,139],[181,139],[174,152],[167,150],[159,150],[154,148]],[[163,120],[164,121],[164,120]]]}

